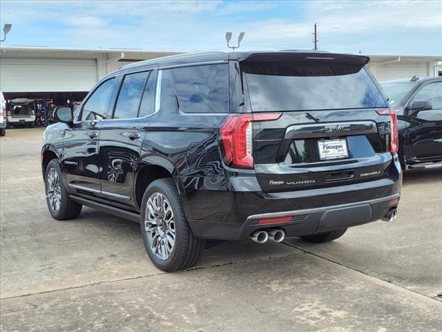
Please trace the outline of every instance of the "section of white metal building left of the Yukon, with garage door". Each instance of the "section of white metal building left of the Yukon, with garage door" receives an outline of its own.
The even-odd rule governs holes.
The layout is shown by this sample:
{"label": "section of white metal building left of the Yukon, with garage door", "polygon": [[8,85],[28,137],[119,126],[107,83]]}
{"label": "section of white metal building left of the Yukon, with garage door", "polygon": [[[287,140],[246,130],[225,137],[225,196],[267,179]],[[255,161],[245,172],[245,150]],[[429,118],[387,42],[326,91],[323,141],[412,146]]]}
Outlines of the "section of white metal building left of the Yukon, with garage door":
{"label": "section of white metal building left of the Yukon, with garage door", "polygon": [[106,75],[125,64],[176,53],[117,49],[2,47],[0,91],[6,99],[81,100]]}

